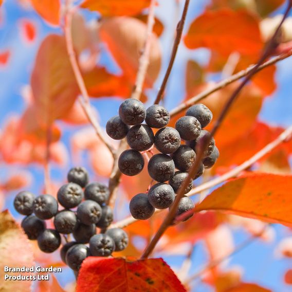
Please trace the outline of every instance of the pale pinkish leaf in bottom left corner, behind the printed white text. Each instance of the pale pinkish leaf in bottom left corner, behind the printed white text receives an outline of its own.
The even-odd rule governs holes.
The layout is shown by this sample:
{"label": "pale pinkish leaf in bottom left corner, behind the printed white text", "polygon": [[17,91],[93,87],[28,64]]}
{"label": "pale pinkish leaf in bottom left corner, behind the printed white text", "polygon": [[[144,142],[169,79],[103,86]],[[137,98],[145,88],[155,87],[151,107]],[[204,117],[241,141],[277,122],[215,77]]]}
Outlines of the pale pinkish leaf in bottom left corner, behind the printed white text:
{"label": "pale pinkish leaf in bottom left corner, behind the printed white text", "polygon": [[[13,244],[11,244],[13,243]],[[32,248],[27,236],[13,217],[6,210],[0,213],[0,290],[29,291],[31,281],[5,281],[3,277],[4,266],[32,267],[34,265]],[[6,275],[15,276],[13,272],[5,272]],[[19,272],[17,275],[29,276],[28,272]]]}

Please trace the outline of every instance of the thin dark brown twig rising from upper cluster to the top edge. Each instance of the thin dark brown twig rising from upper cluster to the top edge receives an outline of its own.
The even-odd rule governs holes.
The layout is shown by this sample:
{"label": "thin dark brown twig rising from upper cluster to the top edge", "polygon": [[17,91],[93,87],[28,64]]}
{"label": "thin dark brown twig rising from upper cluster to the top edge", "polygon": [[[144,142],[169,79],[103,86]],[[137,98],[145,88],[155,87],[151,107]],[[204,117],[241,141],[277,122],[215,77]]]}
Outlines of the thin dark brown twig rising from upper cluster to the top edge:
{"label": "thin dark brown twig rising from upper cluster to the top edge", "polygon": [[154,101],[154,104],[158,104],[160,102],[160,100],[162,99],[162,97],[163,97],[163,93],[165,91],[165,88],[166,88],[166,85],[167,85],[167,82],[168,82],[168,79],[169,79],[169,76],[170,76],[170,72],[172,70],[172,66],[173,66],[173,63],[174,63],[174,60],[175,60],[175,57],[176,57],[176,52],[177,52],[177,49],[178,49],[178,46],[179,46],[179,43],[180,43],[182,30],[184,29],[186,16],[187,16],[188,8],[189,8],[189,3],[190,3],[190,0],[186,0],[185,6],[184,6],[184,11],[182,11],[181,19],[177,24],[176,37],[175,37],[175,40],[174,40],[174,43],[173,43],[169,65],[168,65],[165,77],[163,78],[163,81],[162,81],[161,87],[159,89],[159,92],[157,94],[157,97],[156,97],[156,99]]}

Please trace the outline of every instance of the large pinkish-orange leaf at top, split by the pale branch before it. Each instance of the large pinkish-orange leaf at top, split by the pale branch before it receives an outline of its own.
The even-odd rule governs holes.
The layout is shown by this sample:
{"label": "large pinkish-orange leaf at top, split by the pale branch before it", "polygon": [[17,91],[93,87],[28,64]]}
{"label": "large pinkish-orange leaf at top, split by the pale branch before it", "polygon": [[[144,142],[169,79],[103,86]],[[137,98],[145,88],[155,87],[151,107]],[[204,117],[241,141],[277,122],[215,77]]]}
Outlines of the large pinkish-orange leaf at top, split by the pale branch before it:
{"label": "large pinkish-orange leaf at top, split by the pale branch before it", "polygon": [[[107,44],[125,77],[133,84],[136,80],[146,30],[147,27],[143,22],[132,17],[106,19],[101,22],[99,29],[101,40]],[[153,34],[145,86],[153,85],[158,77],[160,65],[161,48],[157,36]]]}

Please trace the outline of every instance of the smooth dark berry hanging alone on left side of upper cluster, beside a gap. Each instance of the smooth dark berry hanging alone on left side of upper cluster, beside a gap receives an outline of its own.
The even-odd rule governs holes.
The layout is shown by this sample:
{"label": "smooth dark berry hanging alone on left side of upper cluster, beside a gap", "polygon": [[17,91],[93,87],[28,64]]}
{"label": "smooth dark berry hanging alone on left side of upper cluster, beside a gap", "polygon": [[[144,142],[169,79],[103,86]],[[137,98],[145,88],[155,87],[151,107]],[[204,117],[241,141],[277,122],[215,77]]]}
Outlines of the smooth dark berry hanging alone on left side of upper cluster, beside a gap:
{"label": "smooth dark berry hanging alone on left side of upper cluster, beside a gap", "polygon": [[118,160],[118,167],[121,173],[129,176],[140,173],[144,167],[144,158],[136,150],[125,150],[121,153]]}

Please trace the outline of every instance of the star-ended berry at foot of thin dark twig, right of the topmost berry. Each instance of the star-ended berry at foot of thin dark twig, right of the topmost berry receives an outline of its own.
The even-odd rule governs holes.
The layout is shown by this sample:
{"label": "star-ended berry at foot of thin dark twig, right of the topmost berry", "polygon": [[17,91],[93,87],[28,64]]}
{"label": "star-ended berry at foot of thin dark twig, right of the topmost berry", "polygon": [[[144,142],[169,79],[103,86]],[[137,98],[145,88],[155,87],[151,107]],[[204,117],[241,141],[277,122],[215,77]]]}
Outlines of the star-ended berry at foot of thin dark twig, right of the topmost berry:
{"label": "star-ended berry at foot of thin dark twig, right of the topmost berry", "polygon": [[168,110],[159,104],[153,104],[147,108],[145,122],[154,128],[161,128],[168,124],[170,115]]}

